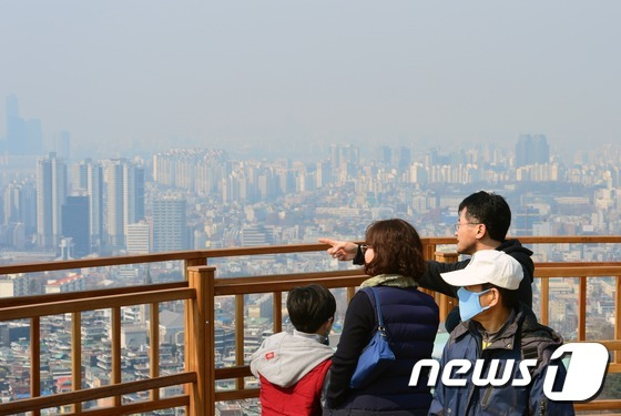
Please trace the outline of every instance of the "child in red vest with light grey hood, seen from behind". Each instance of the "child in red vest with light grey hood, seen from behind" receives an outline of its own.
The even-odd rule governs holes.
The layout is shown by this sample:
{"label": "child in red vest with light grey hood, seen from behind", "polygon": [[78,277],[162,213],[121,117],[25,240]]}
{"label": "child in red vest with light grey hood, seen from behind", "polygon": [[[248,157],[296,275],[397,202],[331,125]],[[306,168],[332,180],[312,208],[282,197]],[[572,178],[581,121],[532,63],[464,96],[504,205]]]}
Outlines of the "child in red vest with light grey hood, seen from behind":
{"label": "child in red vest with light grey hood, seen from behind", "polygon": [[287,311],[293,334],[272,335],[251,356],[251,371],[261,381],[262,415],[320,415],[334,354],[328,334],[336,301],[320,285],[295,287],[288,293]]}

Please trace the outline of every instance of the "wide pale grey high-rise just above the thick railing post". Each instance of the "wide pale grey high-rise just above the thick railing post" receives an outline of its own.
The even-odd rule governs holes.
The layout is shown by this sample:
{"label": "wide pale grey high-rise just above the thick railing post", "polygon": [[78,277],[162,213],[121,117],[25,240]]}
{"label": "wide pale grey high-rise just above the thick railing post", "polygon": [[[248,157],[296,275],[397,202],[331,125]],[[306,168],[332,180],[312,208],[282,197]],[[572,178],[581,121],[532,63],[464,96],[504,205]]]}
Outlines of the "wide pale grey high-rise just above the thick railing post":
{"label": "wide pale grey high-rise just above the thick railing post", "polygon": [[187,250],[185,200],[163,196],[153,201],[153,251]]}

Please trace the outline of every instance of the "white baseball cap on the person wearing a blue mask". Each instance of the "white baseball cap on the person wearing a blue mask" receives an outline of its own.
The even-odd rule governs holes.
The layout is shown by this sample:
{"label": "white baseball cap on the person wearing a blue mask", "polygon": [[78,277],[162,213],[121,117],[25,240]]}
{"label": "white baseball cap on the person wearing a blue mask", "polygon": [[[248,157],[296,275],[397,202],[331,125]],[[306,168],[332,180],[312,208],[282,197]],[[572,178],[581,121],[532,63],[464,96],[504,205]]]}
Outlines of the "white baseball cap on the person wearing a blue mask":
{"label": "white baseball cap on the person wearing a blue mask", "polygon": [[498,250],[476,252],[465,268],[440,273],[454,286],[470,286],[491,283],[515,291],[523,278],[522,265],[509,254]]}

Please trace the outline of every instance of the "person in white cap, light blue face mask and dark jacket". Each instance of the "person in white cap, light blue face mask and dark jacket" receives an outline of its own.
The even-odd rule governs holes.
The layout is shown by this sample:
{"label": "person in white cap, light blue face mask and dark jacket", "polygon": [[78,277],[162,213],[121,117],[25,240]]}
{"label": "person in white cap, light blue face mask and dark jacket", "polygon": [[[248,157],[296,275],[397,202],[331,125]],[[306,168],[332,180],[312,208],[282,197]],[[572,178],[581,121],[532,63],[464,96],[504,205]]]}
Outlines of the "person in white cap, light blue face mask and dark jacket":
{"label": "person in white cap, light blue face mask and dark jacket", "polygon": [[[520,263],[503,252],[483,250],[475,253],[466,268],[442,273],[441,277],[461,286],[457,295],[462,321],[450,333],[441,368],[455,359],[467,359],[472,366],[469,372],[451,374],[451,379],[464,379],[464,386],[438,382],[429,415],[573,415],[571,402],[550,400],[543,394],[548,366],[558,366],[554,387],[561,388],[564,383],[562,363],[550,362],[562,338],[539,324],[532,311],[518,302],[517,290],[523,278]],[[482,367],[480,363],[475,365],[479,359]],[[525,359],[537,361],[528,374],[520,366]],[[472,381],[474,375],[499,379],[505,372],[511,376],[499,386],[477,386]],[[513,385],[512,381],[525,377],[531,377],[531,382]]]}

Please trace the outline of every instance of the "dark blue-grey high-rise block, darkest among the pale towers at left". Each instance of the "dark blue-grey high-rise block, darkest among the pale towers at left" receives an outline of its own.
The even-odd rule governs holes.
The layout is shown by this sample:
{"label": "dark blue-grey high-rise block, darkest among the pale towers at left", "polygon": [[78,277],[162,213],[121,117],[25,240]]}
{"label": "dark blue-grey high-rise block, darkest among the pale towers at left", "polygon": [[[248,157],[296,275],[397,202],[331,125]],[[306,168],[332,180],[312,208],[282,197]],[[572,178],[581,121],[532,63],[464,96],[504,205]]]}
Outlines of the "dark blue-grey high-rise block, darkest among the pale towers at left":
{"label": "dark blue-grey high-rise block, darkest among the pale towers at left", "polygon": [[62,205],[62,235],[73,241],[73,255],[90,253],[89,196],[67,196]]}

